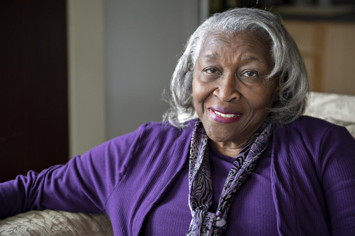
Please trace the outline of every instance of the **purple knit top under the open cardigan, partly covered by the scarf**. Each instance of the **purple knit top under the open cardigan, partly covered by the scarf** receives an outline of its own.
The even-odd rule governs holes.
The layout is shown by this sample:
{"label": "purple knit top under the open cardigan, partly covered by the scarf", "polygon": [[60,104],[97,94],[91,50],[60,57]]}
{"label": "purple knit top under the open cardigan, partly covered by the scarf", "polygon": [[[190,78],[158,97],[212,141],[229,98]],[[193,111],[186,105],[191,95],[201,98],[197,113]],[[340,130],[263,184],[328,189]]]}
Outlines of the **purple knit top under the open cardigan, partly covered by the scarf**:
{"label": "purple knit top under the open cardigan, partly covered by the scarf", "polygon": [[[228,215],[228,227],[224,236],[278,235],[270,181],[271,155],[266,152],[265,154],[259,158],[253,174],[237,191]],[[209,209],[210,212],[217,210],[224,182],[234,161],[234,158],[220,154],[209,145],[213,188],[213,203]],[[186,162],[173,187],[149,214],[144,229],[146,235],[185,235],[191,221],[189,202],[186,197],[189,195],[189,185],[186,185],[188,174],[189,163]],[[245,204],[245,202],[250,202],[250,204]]]}

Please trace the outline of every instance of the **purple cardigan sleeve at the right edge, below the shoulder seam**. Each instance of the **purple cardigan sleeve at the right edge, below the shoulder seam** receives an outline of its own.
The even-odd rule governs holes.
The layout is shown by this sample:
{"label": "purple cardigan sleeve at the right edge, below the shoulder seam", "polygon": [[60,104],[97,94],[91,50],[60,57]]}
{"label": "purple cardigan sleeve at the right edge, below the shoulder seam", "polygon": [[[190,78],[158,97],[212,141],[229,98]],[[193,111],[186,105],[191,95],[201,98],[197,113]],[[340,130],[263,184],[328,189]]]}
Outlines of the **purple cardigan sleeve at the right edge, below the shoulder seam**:
{"label": "purple cardigan sleeve at the right edge, below the shoulder seam", "polygon": [[355,140],[345,128],[332,127],[318,156],[332,235],[355,235]]}

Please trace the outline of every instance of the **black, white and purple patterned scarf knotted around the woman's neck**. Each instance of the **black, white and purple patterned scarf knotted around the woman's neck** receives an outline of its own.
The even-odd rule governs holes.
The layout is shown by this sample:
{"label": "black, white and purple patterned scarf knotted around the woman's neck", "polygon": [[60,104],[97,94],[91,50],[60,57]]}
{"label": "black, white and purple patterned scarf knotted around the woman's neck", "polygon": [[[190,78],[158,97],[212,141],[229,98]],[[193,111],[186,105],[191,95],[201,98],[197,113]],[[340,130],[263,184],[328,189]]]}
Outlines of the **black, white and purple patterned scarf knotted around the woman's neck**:
{"label": "black, white and purple patterned scarf knotted around the woman's neck", "polygon": [[198,120],[193,129],[189,162],[189,207],[192,214],[186,236],[220,236],[227,227],[227,215],[234,194],[253,172],[257,159],[269,144],[272,124],[267,120],[243,146],[225,181],[217,213],[208,212],[212,205],[212,178],[208,159],[208,136]]}

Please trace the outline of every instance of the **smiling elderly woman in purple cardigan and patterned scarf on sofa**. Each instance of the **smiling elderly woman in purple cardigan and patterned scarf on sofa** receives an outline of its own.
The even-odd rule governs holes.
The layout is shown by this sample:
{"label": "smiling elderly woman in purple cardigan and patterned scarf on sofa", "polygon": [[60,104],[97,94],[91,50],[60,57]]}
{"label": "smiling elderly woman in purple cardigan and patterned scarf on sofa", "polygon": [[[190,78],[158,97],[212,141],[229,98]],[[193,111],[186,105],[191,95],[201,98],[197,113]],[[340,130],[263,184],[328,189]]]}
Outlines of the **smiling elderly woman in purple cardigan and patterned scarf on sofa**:
{"label": "smiling elderly woman in purple cardigan and patterned scarf on sofa", "polygon": [[208,18],[171,91],[168,122],[1,184],[0,218],[53,208],[107,213],[115,235],[355,235],[355,140],[301,116],[307,72],[279,16]]}

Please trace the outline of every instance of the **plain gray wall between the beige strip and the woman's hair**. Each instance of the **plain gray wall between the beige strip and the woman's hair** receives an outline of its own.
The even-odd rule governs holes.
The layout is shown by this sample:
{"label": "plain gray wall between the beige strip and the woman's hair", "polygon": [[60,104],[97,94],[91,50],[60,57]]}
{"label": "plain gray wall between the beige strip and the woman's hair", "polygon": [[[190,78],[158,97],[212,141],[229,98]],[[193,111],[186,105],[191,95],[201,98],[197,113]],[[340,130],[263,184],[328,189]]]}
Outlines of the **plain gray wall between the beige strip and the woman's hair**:
{"label": "plain gray wall between the beige strip and the woman's hair", "polygon": [[198,12],[198,0],[104,1],[106,139],[162,120],[162,91]]}

